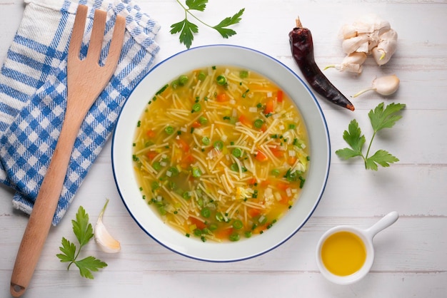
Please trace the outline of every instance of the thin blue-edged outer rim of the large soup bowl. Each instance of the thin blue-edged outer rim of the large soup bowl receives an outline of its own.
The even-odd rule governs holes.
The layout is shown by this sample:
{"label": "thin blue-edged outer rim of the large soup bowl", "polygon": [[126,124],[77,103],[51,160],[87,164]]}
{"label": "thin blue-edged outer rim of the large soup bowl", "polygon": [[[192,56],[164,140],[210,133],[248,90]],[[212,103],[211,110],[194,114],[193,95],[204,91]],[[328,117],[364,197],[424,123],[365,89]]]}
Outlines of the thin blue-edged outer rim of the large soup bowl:
{"label": "thin blue-edged outer rim of the large soup bowl", "polygon": [[[276,245],[273,245],[273,246],[270,247],[268,250],[263,250],[263,251],[261,251],[261,252],[258,252],[257,254],[249,255],[249,256],[247,256],[247,257],[240,257],[240,258],[237,258],[237,259],[231,259],[231,260],[209,260],[209,259],[205,259],[205,258],[200,258],[200,257],[194,257],[194,256],[191,256],[191,255],[187,255],[187,254],[185,254],[185,253],[183,253],[183,252],[179,252],[178,250],[174,250],[172,247],[169,247],[169,246],[165,245],[163,242],[157,240],[156,237],[152,236],[151,233],[149,233],[149,232],[148,232],[148,231],[141,225],[141,223],[139,222],[139,220],[138,220],[136,217],[134,217],[134,215],[132,214],[131,210],[129,209],[129,206],[126,204],[126,200],[124,200],[124,196],[123,196],[123,194],[121,193],[121,190],[120,190],[120,187],[119,187],[119,182],[118,182],[118,180],[117,180],[117,178],[116,178],[116,171],[115,171],[115,165],[114,165],[114,147],[115,147],[114,144],[115,144],[116,130],[114,130],[114,134],[112,135],[112,143],[111,143],[111,165],[112,165],[112,172],[113,172],[113,175],[114,175],[114,181],[115,181],[116,189],[117,189],[118,192],[119,192],[119,196],[121,197],[121,201],[124,203],[124,206],[126,207],[126,210],[129,212],[129,215],[131,215],[131,217],[134,219],[134,221],[136,222],[136,224],[141,228],[141,230],[143,230],[147,235],[149,235],[149,237],[151,237],[153,240],[155,240],[157,243],[159,243],[159,245],[165,247],[165,248],[168,249],[168,250],[171,250],[171,252],[175,252],[176,254],[182,255],[182,256],[184,256],[184,257],[188,257],[188,258],[193,259],[193,260],[199,260],[199,261],[205,261],[205,262],[216,262],[216,263],[240,262],[240,261],[243,261],[243,260],[249,260],[249,259],[252,259],[252,258],[255,258],[255,257],[259,257],[259,256],[261,256],[261,255],[266,254],[267,252],[271,252],[272,250],[275,250],[277,247],[279,247],[280,245],[283,245],[283,243],[287,242],[291,237],[293,237],[293,235],[296,234],[296,232],[298,232],[299,230],[301,230],[301,228],[302,228],[304,225],[306,225],[306,222],[309,220],[309,218],[311,218],[311,216],[313,215],[313,212],[315,212],[316,207],[318,206],[319,202],[321,201],[321,197],[323,196],[324,190],[326,189],[326,184],[327,184],[327,181],[328,181],[328,175],[329,175],[329,170],[330,170],[330,165],[331,165],[331,141],[330,141],[330,138],[329,138],[328,125],[327,125],[327,123],[326,123],[326,118],[324,117],[323,111],[321,110],[321,106],[320,106],[320,104],[318,103],[318,101],[316,100],[316,97],[315,97],[315,95],[313,94],[313,92],[311,91],[311,89],[308,88],[308,86],[307,86],[306,83],[304,83],[303,79],[302,79],[300,76],[298,76],[294,71],[292,71],[291,68],[289,68],[288,66],[286,66],[286,65],[285,65],[284,63],[282,63],[281,61],[278,61],[278,59],[273,58],[272,56],[269,56],[268,54],[263,53],[263,52],[258,51],[258,50],[255,50],[255,49],[253,49],[253,48],[248,48],[248,47],[245,47],[245,46],[234,46],[234,45],[228,45],[228,44],[211,44],[211,45],[206,45],[206,46],[197,46],[197,47],[195,47],[195,48],[189,48],[189,49],[187,49],[187,50],[180,51],[179,53],[175,53],[174,55],[170,56],[169,58],[166,58],[166,59],[164,59],[163,61],[159,62],[159,63],[156,64],[153,68],[151,68],[151,70],[146,74],[146,76],[149,76],[150,73],[152,73],[156,68],[159,68],[160,66],[162,66],[166,61],[169,61],[169,60],[171,60],[171,58],[174,58],[174,57],[176,57],[176,56],[179,56],[179,55],[181,55],[182,53],[186,53],[186,52],[189,52],[189,51],[196,51],[196,50],[201,49],[201,48],[210,48],[210,47],[241,48],[241,49],[246,50],[246,51],[252,51],[253,53],[261,54],[262,56],[265,56],[266,58],[269,58],[269,59],[275,61],[276,63],[278,63],[279,65],[281,65],[283,68],[286,68],[286,70],[287,70],[288,72],[290,72],[293,76],[296,77],[296,79],[297,79],[298,81],[300,81],[300,82],[303,84],[303,86],[306,88],[306,90],[308,91],[308,93],[311,95],[311,98],[313,99],[313,101],[314,101],[316,107],[318,108],[318,112],[319,112],[320,115],[321,115],[321,120],[323,120],[323,125],[324,125],[324,128],[325,128],[325,130],[326,130],[326,142],[327,142],[327,145],[328,145],[328,156],[327,156],[327,164],[326,164],[326,175],[325,175],[325,177],[324,177],[323,185],[321,186],[321,190],[320,190],[320,192],[319,192],[319,194],[318,194],[318,198],[316,199],[316,202],[315,202],[315,204],[313,205],[312,210],[310,210],[310,212],[308,213],[308,216],[306,217],[306,219],[303,220],[303,222],[301,222],[301,225],[299,225],[298,227],[296,227],[296,229],[295,229],[295,230],[294,230],[288,237],[284,238],[281,242],[278,242]],[[123,106],[122,106],[122,108],[121,108],[121,111],[120,111],[120,113],[119,113],[119,115],[118,115],[118,118],[116,119],[116,125],[118,125],[118,123],[119,123],[119,119],[120,119],[120,117],[121,117],[121,112],[123,111],[124,106],[126,105],[127,101],[129,100],[129,98],[131,98],[131,95],[132,95],[132,93],[134,93],[134,90],[136,89],[136,87],[139,86],[139,84],[140,84],[142,81],[144,81],[144,78],[146,78],[146,76],[144,76],[143,78],[141,78],[141,80],[139,81],[139,83],[136,84],[136,86],[134,87],[134,89],[133,89],[133,90],[131,91],[131,93],[129,94],[128,98],[126,98],[126,101],[124,101],[124,104],[123,104]]]}

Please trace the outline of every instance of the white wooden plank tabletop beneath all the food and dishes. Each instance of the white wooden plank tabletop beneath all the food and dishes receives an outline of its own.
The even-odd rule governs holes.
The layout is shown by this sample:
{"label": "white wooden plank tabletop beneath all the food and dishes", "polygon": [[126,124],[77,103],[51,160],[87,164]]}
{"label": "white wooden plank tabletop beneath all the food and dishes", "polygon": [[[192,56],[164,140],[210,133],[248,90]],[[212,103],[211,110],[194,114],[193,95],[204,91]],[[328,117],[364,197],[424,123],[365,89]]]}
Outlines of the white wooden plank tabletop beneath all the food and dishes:
{"label": "white wooden plank tabletop beneath all the food and dishes", "polygon": [[[136,2],[162,26],[157,63],[185,49],[178,36],[169,34],[169,26],[184,17],[176,1]],[[233,27],[236,36],[223,39],[200,26],[193,46],[248,46],[300,75],[288,46],[288,32],[297,15],[313,33],[321,67],[341,61],[338,30],[356,16],[379,14],[399,34],[398,50],[386,66],[378,68],[368,58],[361,76],[325,72],[348,96],[382,74],[396,73],[401,88],[391,98],[367,93],[355,99],[353,113],[318,97],[331,135],[332,160],[326,192],[311,219],[291,240],[251,260],[221,264],[182,257],[157,244],[129,216],[114,184],[109,142],[66,217],[51,229],[24,297],[447,297],[447,1],[226,0],[210,1],[199,16],[217,24],[243,7],[243,20]],[[21,0],[0,0],[1,63],[23,11]],[[401,161],[373,172],[365,170],[361,160],[340,160],[334,152],[346,147],[343,130],[356,118],[370,138],[367,114],[382,101],[407,105],[403,118],[373,145]],[[28,220],[11,207],[12,195],[0,186],[0,297],[9,297],[16,250]],[[91,242],[86,252],[109,267],[88,280],[75,267],[67,271],[56,254],[61,237],[73,237],[71,219],[79,205],[96,220],[106,197],[111,202],[104,221],[120,240],[122,251],[107,255]],[[374,238],[376,261],[370,274],[349,286],[326,281],[315,261],[316,243],[323,232],[341,224],[368,227],[393,210],[400,218]]]}

